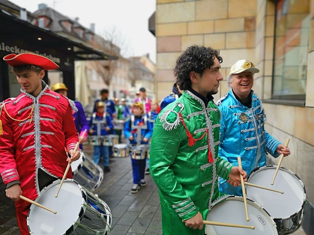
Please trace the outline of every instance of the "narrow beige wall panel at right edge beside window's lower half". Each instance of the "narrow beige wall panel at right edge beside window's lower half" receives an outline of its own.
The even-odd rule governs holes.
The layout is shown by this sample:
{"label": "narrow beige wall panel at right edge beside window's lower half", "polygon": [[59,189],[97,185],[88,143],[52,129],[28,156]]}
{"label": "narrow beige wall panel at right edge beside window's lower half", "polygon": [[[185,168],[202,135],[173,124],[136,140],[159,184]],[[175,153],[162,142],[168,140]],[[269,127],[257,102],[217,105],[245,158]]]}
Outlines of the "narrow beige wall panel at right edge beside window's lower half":
{"label": "narrow beige wall panel at right edge beside window's lower half", "polygon": [[314,88],[314,51],[309,53],[308,61],[307,61],[306,103],[305,103],[305,105],[308,107],[314,107],[313,88]]}

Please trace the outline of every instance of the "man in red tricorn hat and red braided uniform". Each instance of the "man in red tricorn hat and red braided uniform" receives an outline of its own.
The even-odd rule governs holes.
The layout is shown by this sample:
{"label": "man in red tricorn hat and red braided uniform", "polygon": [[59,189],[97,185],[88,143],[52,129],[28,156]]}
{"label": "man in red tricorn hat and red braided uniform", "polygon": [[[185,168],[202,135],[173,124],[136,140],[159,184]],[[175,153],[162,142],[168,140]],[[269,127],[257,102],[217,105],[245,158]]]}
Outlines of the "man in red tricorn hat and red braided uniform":
{"label": "man in red tricorn hat and red braided uniform", "polygon": [[[7,197],[15,201],[21,234],[29,235],[30,204],[19,200],[19,195],[34,200],[42,188],[62,178],[69,162],[80,157],[79,150],[73,152],[78,142],[71,110],[75,105],[42,80],[44,70],[59,67],[48,58],[27,53],[3,60],[12,66],[21,94],[0,103],[0,174]],[[71,170],[67,178],[72,178]]]}

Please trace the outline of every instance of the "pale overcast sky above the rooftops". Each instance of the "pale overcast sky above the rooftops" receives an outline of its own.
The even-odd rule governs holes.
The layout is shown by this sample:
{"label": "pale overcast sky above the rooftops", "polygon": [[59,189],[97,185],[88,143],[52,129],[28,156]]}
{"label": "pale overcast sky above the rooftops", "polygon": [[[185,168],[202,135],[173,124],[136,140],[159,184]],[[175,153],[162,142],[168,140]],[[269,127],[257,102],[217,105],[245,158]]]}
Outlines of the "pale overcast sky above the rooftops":
{"label": "pale overcast sky above the rooftops", "polygon": [[116,29],[122,38],[120,43],[124,47],[124,56],[142,56],[149,53],[150,59],[156,61],[156,39],[148,31],[148,19],[155,11],[156,0],[10,1],[30,12],[37,10],[39,3],[46,3],[72,19],[79,17],[79,23],[86,28],[89,28],[90,23],[95,23],[96,33],[99,35]]}

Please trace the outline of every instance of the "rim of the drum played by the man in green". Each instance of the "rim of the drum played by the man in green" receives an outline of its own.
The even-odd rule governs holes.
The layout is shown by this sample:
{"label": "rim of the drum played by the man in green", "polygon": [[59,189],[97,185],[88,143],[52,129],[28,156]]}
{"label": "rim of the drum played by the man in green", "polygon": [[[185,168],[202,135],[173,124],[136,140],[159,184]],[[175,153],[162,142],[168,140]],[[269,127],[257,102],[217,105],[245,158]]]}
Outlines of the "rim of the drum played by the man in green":
{"label": "rim of the drum played by the man in green", "polygon": [[[217,200],[217,199],[216,199]],[[219,200],[219,198],[218,198]],[[235,195],[225,195],[225,196],[222,196],[221,197],[221,200],[220,201],[217,201],[213,206],[210,207],[210,210],[208,212],[208,215],[210,213],[210,211],[215,207],[217,206],[219,203],[223,202],[223,201],[229,201],[229,200],[237,200],[237,201],[242,201],[244,202],[243,200],[243,197],[242,196],[235,196]],[[261,213],[266,217],[268,218],[268,222],[269,224],[271,225],[272,229],[273,229],[273,232],[277,232],[275,234],[279,235],[279,232],[278,232],[278,229],[277,229],[277,224],[276,222],[273,220],[273,218],[269,215],[269,213],[263,208],[263,206],[259,205],[258,203],[256,203],[255,201],[252,201],[251,199],[248,199],[246,198],[246,202],[247,204],[255,207],[257,210],[261,211]],[[262,209],[262,210],[260,210]],[[264,214],[266,213],[266,215]],[[208,216],[207,215],[207,216]]]}

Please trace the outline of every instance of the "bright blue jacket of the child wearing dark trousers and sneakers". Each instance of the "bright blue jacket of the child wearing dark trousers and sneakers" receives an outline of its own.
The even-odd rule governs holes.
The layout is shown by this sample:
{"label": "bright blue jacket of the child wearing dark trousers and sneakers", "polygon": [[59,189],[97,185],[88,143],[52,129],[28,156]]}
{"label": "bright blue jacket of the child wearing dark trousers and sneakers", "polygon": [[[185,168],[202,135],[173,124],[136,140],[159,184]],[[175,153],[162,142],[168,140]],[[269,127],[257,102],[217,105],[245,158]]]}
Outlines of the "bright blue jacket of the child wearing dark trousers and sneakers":
{"label": "bright blue jacket of the child wearing dark trousers and sneakers", "polygon": [[[142,116],[135,116],[134,119],[134,125],[138,126],[138,124],[140,122],[144,122],[144,119]],[[137,132],[132,129],[132,125],[131,125],[131,120],[128,119],[127,122],[124,124],[124,135],[127,139],[130,138],[131,135],[133,135],[133,140],[130,141],[130,144],[137,144],[136,138],[137,138]],[[142,134],[142,141],[141,144],[148,144],[148,142],[144,142],[143,138],[147,138],[149,139],[150,137],[152,137],[153,134],[153,124],[149,121],[147,121],[147,129],[142,129],[141,131]]]}

